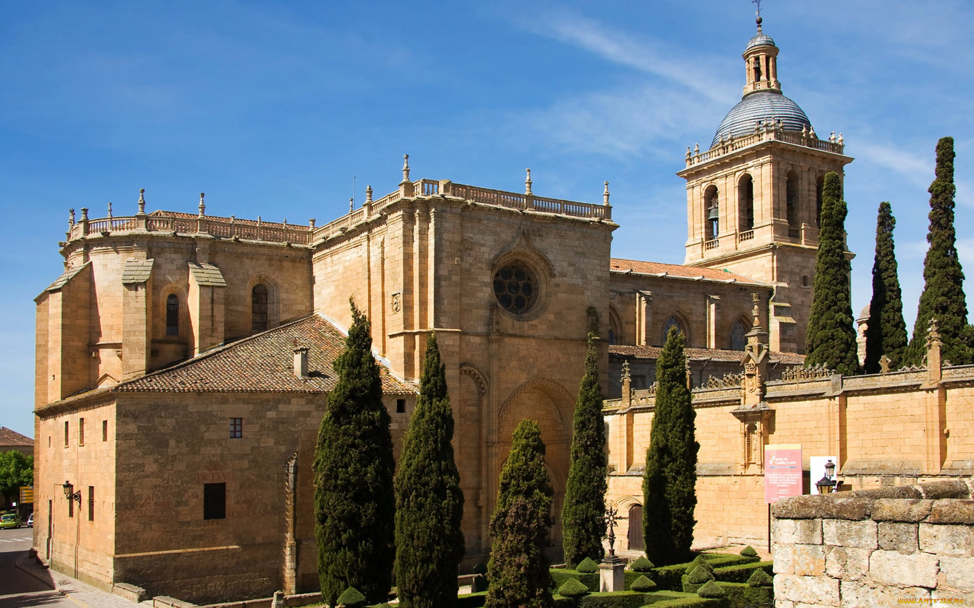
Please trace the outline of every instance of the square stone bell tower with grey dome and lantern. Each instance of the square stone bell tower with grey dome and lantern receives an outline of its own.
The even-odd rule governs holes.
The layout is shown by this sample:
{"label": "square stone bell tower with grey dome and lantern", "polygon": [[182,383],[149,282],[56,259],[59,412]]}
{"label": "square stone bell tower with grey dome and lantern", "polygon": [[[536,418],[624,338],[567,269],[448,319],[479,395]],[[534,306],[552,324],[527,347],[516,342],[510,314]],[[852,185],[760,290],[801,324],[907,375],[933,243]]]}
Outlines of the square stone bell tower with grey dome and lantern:
{"label": "square stone bell tower with grey dome and lantern", "polygon": [[[805,352],[825,174],[852,159],[842,133],[819,139],[801,107],[781,92],[778,48],[762,30],[748,41],[743,97],[717,127],[710,149],[688,147],[688,266],[727,269],[768,283],[771,350]],[[851,254],[849,254],[851,255]]]}

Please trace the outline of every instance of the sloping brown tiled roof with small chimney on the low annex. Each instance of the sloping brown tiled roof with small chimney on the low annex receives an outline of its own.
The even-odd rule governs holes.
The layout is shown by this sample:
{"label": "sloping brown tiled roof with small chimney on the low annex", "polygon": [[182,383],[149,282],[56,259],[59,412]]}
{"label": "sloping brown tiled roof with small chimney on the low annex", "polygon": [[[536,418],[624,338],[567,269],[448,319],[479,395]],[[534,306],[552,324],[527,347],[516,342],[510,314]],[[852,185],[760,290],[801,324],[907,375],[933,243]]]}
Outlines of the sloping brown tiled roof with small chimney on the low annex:
{"label": "sloping brown tiled roof with small chimney on the low annex", "polygon": [[[306,378],[294,376],[294,350],[308,348]],[[112,391],[321,393],[335,386],[332,362],[345,348],[345,336],[317,314],[220,346],[199,357],[115,386]],[[379,366],[382,390],[415,394]]]}

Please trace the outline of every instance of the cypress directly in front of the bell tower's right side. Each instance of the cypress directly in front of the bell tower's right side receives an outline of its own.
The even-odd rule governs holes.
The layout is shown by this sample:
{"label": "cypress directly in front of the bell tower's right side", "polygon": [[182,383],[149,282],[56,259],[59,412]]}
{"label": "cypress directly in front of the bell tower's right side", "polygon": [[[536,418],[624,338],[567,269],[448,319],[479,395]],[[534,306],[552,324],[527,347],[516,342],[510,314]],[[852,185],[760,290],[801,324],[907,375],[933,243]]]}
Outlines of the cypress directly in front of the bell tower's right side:
{"label": "cypress directly in front of the bell tower's right side", "polygon": [[805,330],[805,365],[821,364],[853,375],[859,372],[859,358],[849,294],[851,266],[845,257],[846,212],[842,179],[835,171],[826,173],[811,314]]}

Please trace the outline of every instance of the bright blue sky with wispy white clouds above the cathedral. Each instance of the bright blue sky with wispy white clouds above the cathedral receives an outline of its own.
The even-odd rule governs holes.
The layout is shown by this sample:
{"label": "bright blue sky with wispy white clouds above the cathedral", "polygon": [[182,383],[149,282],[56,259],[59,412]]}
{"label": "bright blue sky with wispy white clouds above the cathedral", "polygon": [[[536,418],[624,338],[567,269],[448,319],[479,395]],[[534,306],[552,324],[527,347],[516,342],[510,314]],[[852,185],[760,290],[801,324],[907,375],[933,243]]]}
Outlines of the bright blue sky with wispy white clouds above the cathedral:
{"label": "bright blue sky with wispy white clouds above the cathedral", "polygon": [[[745,0],[0,2],[0,424],[33,435],[33,298],[60,272],[67,209],[324,224],[413,177],[598,202],[616,257],[682,263],[674,173],[740,98]],[[842,131],[853,307],[876,209],[897,217],[912,328],[926,188],[956,140],[956,227],[974,273],[974,4],[766,0],[778,74],[816,131]]]}

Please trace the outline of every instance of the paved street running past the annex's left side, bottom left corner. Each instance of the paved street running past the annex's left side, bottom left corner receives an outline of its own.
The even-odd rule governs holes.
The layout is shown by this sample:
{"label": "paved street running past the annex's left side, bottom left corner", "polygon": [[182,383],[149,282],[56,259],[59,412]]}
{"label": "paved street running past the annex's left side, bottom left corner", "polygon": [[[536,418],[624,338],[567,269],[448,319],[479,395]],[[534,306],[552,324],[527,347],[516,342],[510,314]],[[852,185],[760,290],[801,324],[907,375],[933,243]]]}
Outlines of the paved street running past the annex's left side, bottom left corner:
{"label": "paved street running past the annex's left side, bottom left corner", "polygon": [[19,569],[15,562],[30,549],[32,535],[31,528],[0,530],[0,608],[138,608],[138,603],[57,572],[38,571],[50,582],[46,585]]}

